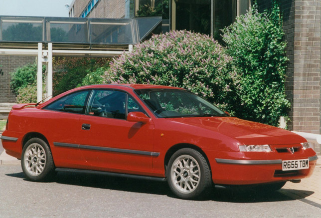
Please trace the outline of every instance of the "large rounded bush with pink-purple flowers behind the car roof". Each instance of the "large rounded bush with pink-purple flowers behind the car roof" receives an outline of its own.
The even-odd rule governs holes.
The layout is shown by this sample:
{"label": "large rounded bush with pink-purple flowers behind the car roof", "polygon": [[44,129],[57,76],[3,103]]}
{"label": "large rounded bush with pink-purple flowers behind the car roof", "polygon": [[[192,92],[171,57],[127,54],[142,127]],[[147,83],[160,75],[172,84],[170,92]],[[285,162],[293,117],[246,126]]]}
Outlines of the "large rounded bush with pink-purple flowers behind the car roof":
{"label": "large rounded bush with pink-purple flowers behind the car roof", "polygon": [[113,59],[104,82],[183,87],[231,113],[239,102],[232,58],[208,35],[185,30],[154,35]]}

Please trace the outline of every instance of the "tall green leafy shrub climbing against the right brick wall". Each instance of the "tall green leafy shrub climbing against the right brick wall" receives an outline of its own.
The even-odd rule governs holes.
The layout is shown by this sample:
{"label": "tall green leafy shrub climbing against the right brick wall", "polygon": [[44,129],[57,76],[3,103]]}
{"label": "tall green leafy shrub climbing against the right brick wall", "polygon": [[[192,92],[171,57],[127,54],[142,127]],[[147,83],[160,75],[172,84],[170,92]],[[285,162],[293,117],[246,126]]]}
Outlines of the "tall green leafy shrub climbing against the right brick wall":
{"label": "tall green leafy shrub climbing against the right brick wall", "polygon": [[288,59],[278,4],[274,0],[272,10],[264,13],[253,6],[225,28],[222,37],[242,77],[237,116],[278,126],[291,106],[285,95]]}

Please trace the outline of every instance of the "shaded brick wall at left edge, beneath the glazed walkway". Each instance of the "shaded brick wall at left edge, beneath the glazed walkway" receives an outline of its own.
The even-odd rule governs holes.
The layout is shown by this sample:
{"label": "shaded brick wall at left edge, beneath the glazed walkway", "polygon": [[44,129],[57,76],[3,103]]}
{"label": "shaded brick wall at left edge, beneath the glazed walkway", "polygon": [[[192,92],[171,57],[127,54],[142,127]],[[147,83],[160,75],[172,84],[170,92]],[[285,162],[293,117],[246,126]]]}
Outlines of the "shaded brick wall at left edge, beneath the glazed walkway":
{"label": "shaded brick wall at left edge, beneath the glazed walkway", "polygon": [[15,95],[10,90],[9,72],[34,61],[33,56],[0,55],[0,69],[3,71],[3,75],[0,75],[0,103],[15,103]]}

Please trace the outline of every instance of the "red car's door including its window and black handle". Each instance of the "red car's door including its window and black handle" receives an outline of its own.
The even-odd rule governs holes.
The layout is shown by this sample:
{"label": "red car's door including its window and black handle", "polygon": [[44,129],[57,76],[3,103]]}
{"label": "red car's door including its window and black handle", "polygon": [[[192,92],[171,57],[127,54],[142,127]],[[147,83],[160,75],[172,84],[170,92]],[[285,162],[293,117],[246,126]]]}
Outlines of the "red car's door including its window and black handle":
{"label": "red car's door including its window and black handle", "polygon": [[127,114],[144,112],[128,93],[94,90],[82,116],[80,151],[95,170],[149,175],[153,168],[154,124],[130,122]]}

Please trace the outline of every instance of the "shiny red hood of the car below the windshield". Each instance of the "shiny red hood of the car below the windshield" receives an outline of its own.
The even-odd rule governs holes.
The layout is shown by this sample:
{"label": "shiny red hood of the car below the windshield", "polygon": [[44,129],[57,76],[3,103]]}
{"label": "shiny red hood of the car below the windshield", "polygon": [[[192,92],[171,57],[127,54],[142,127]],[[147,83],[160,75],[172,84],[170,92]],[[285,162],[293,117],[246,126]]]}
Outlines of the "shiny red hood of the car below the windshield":
{"label": "shiny red hood of the car below the windshield", "polygon": [[239,141],[240,144],[298,144],[306,140],[290,131],[235,117],[171,118],[174,122],[214,131]]}

